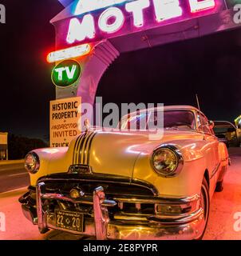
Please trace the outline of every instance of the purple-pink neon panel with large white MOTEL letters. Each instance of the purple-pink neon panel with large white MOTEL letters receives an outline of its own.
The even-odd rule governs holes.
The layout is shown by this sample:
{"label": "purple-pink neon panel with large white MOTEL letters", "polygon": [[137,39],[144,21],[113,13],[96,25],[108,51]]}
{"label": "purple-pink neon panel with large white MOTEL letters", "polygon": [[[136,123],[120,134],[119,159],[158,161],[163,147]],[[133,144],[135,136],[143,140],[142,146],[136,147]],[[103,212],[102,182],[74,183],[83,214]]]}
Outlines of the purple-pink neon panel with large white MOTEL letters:
{"label": "purple-pink neon panel with large white MOTEL letters", "polygon": [[70,8],[70,18],[57,25],[62,31],[60,45],[97,42],[224,8],[223,0],[81,0]]}

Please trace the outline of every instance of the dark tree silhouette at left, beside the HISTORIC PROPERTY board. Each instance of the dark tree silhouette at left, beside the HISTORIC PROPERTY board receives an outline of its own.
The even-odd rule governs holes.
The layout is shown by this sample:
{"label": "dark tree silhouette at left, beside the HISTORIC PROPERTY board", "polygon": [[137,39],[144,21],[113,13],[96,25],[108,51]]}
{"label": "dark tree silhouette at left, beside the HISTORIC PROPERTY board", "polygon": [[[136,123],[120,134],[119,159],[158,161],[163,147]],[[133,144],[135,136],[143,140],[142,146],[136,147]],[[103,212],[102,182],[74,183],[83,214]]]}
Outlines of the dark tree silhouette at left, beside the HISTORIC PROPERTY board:
{"label": "dark tree silhouette at left, beside the HISTORIC PROPERTY board", "polygon": [[39,138],[26,138],[21,135],[9,134],[8,136],[8,154],[9,159],[22,159],[31,150],[44,148],[48,145]]}

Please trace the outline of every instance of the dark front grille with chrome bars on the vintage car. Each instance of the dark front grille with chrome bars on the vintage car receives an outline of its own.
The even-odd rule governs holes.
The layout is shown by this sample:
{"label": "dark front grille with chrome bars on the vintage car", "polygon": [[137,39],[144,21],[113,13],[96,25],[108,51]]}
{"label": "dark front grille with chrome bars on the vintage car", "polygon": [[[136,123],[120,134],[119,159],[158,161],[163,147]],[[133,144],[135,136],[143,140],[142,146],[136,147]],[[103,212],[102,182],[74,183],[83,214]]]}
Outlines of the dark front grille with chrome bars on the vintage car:
{"label": "dark front grille with chrome bars on the vintage car", "polygon": [[[88,179],[87,182],[86,179],[83,180],[83,175],[79,180],[77,174],[53,174],[45,178],[43,199],[48,202],[43,205],[50,213],[57,209],[79,210],[87,217],[93,218],[93,190],[98,186],[104,188],[107,201],[117,202],[115,206],[106,205],[109,208],[109,217],[113,220],[146,221],[146,217],[155,214],[155,202],[150,201],[151,198],[155,198],[152,187],[123,180],[114,182],[106,177],[105,181]],[[73,189],[81,190],[82,196],[76,199],[71,198],[70,192]]]}

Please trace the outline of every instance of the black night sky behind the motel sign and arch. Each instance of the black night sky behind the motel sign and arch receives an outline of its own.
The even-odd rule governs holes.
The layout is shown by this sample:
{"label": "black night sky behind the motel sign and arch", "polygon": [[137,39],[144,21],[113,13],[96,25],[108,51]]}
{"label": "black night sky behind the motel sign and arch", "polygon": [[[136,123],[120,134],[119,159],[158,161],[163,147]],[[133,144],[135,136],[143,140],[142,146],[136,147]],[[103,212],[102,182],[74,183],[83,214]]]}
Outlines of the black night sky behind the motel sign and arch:
{"label": "black night sky behind the motel sign and arch", "polygon": [[[2,1],[0,1],[3,3]],[[49,100],[55,98],[54,47],[49,20],[62,10],[57,0],[13,0],[0,24],[0,131],[45,138]],[[101,79],[104,102],[196,105],[207,118],[233,121],[241,114],[241,30],[122,54]]]}

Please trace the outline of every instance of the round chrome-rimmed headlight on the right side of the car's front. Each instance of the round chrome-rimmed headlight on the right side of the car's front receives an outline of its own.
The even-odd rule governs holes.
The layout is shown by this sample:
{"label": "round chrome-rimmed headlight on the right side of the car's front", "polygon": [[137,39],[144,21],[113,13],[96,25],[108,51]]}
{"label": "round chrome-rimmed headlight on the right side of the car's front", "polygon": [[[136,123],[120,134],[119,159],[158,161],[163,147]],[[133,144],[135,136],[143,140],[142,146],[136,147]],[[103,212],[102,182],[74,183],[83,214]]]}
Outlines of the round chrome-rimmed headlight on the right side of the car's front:
{"label": "round chrome-rimmed headlight on the right side of the car's front", "polygon": [[182,168],[182,155],[175,146],[161,146],[152,154],[152,167],[164,177],[179,174]]}

